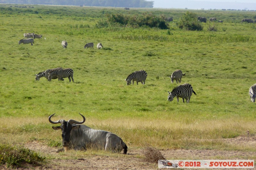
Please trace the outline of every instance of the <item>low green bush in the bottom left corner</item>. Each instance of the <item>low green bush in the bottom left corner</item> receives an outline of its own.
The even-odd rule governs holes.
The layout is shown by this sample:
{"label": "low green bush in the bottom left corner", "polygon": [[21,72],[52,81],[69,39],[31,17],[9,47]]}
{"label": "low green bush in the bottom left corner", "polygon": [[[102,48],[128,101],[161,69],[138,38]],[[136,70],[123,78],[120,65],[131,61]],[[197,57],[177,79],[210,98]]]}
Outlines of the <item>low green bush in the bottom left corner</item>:
{"label": "low green bush in the bottom left corner", "polygon": [[21,166],[22,163],[39,165],[45,159],[45,157],[20,145],[0,144],[0,153],[0,165],[6,164],[8,168]]}

